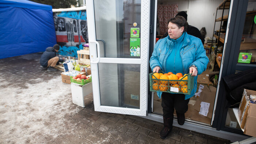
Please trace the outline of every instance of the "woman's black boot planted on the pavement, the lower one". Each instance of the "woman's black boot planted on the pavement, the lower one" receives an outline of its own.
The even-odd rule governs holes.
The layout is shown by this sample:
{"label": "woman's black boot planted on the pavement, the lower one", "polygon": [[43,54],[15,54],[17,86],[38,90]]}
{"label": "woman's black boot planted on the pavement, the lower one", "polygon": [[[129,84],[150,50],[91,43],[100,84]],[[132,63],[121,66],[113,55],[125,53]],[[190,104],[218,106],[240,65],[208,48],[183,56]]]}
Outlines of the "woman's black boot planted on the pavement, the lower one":
{"label": "woman's black boot planted on the pavement, the lower one", "polygon": [[163,128],[160,132],[160,137],[165,139],[173,128],[173,118],[163,118]]}

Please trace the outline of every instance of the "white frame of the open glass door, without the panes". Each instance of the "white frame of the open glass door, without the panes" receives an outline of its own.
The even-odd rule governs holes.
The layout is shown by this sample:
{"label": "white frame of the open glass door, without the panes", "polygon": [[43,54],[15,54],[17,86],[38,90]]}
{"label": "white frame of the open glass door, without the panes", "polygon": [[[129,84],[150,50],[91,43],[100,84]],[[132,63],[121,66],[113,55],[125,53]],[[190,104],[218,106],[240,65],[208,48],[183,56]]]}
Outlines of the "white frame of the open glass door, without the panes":
{"label": "white frame of the open glass door, without the panes", "polygon": [[[150,33],[150,1],[141,1],[141,27],[140,27],[140,58],[100,58],[99,44],[96,41],[94,2],[86,0],[87,26],[89,35],[89,48],[91,60],[91,74],[93,84],[93,98],[95,111],[108,113],[120,113],[130,115],[146,116],[147,96],[148,96],[148,53],[149,53],[149,33]],[[97,47],[98,46],[98,52]],[[97,57],[98,54],[98,57]],[[118,64],[140,64],[140,108],[125,108],[114,106],[102,106],[99,91],[98,63],[118,63]]]}

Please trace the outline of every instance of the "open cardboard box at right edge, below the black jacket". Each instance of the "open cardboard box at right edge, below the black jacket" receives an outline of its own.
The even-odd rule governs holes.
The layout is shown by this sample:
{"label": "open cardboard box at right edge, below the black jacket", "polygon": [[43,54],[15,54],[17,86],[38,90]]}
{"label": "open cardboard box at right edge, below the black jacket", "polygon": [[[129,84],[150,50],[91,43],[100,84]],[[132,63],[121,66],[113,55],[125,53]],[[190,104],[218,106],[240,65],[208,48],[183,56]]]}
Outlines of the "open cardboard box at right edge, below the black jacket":
{"label": "open cardboard box at right edge, below the black jacket", "polygon": [[[240,119],[240,125],[241,128],[244,129],[245,125],[246,125],[246,118],[248,117],[248,111],[249,109],[253,109],[254,107],[252,107],[252,105],[255,105],[253,103],[250,103],[249,101],[249,96],[250,95],[256,95],[256,91],[252,91],[252,90],[246,90],[244,89],[244,93],[238,108],[238,115],[239,115],[239,119]],[[254,109],[254,112],[256,109]]]}

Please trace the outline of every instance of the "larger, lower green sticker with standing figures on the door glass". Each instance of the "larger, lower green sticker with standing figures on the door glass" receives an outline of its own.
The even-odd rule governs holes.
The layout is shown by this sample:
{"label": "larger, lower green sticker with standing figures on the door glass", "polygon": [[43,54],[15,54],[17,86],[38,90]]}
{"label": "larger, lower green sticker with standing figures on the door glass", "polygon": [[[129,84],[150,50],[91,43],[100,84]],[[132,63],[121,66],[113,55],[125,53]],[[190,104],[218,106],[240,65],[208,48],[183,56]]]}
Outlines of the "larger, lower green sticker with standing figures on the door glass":
{"label": "larger, lower green sticker with standing figures on the door glass", "polygon": [[130,38],[130,56],[140,56],[140,38]]}

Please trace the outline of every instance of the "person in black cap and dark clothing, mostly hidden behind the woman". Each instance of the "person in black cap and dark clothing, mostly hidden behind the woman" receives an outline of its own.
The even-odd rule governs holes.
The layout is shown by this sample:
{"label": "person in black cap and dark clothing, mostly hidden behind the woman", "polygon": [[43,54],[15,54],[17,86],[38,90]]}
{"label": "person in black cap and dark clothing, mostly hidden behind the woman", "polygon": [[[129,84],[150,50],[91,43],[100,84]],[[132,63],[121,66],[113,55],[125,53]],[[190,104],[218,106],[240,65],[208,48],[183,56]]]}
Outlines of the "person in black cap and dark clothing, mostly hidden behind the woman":
{"label": "person in black cap and dark clothing, mostly hidden behind the woman", "polygon": [[[182,16],[183,18],[186,19],[186,21],[188,20],[188,15],[186,14],[186,12],[184,11],[181,11],[181,12],[178,12],[178,14],[176,16]],[[176,17],[175,16],[175,17]],[[189,35],[193,35],[197,38],[200,38],[202,43],[204,44],[204,37],[201,35],[199,29],[197,29],[196,27],[194,26],[191,26],[191,25],[188,25],[188,29],[187,29],[187,33]],[[167,37],[168,33],[166,33],[165,35],[163,35],[163,38]]]}

